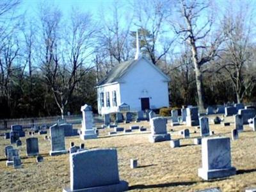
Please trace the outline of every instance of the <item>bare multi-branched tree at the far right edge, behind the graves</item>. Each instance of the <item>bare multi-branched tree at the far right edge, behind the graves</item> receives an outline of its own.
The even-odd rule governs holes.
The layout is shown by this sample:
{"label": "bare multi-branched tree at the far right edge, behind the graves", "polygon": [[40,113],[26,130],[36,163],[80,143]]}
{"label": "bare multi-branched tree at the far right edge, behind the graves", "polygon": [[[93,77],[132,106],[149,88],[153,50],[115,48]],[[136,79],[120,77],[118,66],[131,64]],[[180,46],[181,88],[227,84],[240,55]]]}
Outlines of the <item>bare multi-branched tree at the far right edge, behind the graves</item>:
{"label": "bare multi-branched tree at the far right edge, behind the graves", "polygon": [[231,80],[237,103],[242,102],[244,96],[252,92],[256,83],[256,67],[253,66],[255,28],[252,25],[253,15],[250,13],[246,6],[241,6],[238,12],[233,12],[230,8],[223,21],[227,41],[225,52],[221,54],[221,60],[217,64],[220,65],[220,72],[225,73]]}

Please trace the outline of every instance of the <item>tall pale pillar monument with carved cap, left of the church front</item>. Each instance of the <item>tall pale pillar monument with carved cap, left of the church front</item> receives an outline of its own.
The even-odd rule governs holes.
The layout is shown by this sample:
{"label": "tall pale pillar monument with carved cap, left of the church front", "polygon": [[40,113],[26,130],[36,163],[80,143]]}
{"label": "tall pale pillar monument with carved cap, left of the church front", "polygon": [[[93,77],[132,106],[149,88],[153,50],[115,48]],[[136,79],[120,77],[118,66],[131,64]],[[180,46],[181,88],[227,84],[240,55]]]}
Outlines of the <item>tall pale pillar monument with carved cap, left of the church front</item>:
{"label": "tall pale pillar monument with carved cap, left of the church front", "polygon": [[93,129],[93,113],[92,106],[85,104],[81,106],[81,111],[83,113],[83,125],[81,129],[80,138],[82,140],[90,140],[97,138],[97,133]]}

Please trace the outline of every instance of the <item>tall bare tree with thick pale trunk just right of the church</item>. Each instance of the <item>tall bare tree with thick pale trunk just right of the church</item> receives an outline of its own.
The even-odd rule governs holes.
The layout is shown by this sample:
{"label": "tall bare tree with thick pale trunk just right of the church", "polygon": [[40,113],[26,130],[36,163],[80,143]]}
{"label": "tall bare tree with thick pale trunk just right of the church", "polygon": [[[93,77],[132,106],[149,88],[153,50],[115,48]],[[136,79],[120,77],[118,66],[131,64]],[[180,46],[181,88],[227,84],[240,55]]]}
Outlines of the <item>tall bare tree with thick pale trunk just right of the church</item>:
{"label": "tall bare tree with thick pale trunk just right of the church", "polygon": [[[212,17],[206,17],[204,24],[202,24],[202,18],[205,17],[206,11],[209,11],[209,8],[209,3],[200,3],[196,0],[181,0],[179,13],[184,22],[173,24],[175,33],[182,35],[182,40],[189,45],[192,52],[198,108],[200,111],[204,111],[202,66],[218,56],[220,45],[223,42],[221,33],[214,35],[213,40],[209,38],[210,35],[211,37],[213,36],[210,34],[213,24]],[[201,19],[200,21],[199,18]]]}

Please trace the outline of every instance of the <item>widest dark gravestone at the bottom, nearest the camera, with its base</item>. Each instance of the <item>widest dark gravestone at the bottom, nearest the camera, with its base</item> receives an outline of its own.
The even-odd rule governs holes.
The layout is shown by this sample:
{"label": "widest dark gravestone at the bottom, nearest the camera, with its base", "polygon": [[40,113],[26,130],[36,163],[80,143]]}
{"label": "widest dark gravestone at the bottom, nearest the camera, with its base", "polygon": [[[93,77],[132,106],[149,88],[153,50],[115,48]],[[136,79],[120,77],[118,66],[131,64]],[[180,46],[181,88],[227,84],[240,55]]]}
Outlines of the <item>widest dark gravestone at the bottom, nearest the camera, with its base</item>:
{"label": "widest dark gravestone at the bottom, nearest the camera, with its base", "polygon": [[116,149],[83,150],[70,154],[70,191],[127,191],[119,179]]}

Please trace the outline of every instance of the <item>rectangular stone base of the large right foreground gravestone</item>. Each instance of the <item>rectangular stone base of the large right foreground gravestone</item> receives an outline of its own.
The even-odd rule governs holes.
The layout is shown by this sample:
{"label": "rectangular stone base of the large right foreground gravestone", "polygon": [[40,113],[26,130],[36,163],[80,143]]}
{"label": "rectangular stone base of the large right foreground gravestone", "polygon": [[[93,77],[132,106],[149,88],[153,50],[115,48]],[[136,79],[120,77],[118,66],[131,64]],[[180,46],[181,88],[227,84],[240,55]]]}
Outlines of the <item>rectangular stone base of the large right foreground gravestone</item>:
{"label": "rectangular stone base of the large right foreground gravestone", "polygon": [[204,168],[198,169],[198,176],[202,177],[204,180],[216,179],[221,177],[229,177],[231,175],[236,175],[236,168],[230,167],[226,169],[218,170],[206,170]]}

